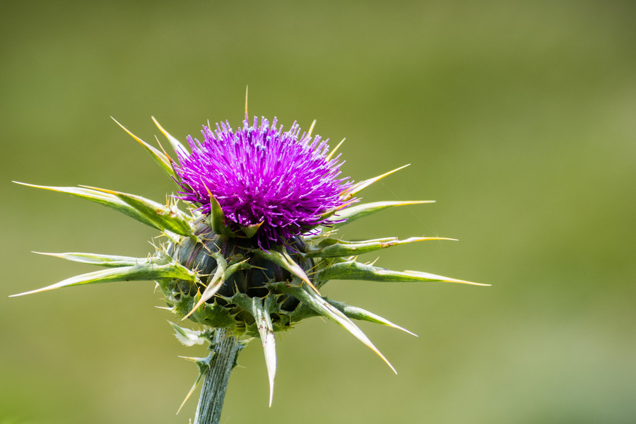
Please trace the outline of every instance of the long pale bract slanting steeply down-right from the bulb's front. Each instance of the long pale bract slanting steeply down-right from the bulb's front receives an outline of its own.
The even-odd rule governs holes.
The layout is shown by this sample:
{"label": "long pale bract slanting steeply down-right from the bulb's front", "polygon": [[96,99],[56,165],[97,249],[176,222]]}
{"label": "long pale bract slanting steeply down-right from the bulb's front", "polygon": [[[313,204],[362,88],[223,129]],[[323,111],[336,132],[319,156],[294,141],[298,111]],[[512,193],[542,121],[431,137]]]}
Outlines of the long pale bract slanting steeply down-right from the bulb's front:
{"label": "long pale bract slanting steeply down-right from the bulb's front", "polygon": [[282,290],[285,293],[293,295],[296,299],[300,300],[300,302],[305,302],[305,304],[311,307],[312,310],[315,310],[323,317],[329,318],[332,321],[336,322],[336,324],[342,326],[343,329],[346,329],[346,331],[353,334],[355,338],[358,338],[359,341],[363,342],[372,351],[377,353],[377,355],[382,358],[382,360],[384,360],[384,362],[387,363],[389,367],[391,367],[391,370],[393,370],[393,372],[397,374],[393,365],[391,365],[387,358],[384,358],[384,355],[382,355],[382,353],[377,350],[377,348],[373,345],[373,343],[371,343],[366,334],[364,334],[363,331],[358,328],[358,326],[353,324],[353,321],[351,321],[351,319],[348,319],[348,317],[343,314],[343,312],[334,307],[334,305],[331,305],[317,293],[305,289],[302,285],[290,285],[285,283],[274,283],[274,285],[276,285],[276,288],[278,288],[278,290]]}

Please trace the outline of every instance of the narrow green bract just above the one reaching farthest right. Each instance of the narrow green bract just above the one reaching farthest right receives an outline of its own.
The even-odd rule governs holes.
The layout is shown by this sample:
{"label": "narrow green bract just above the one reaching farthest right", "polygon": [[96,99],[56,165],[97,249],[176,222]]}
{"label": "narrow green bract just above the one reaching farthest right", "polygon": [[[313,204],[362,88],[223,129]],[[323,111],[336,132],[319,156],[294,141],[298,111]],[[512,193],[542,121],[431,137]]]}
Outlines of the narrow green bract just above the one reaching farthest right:
{"label": "narrow green bract just above the one reaching farthest right", "polygon": [[[406,245],[407,243],[423,242],[425,240],[455,240],[444,237],[410,237],[406,240],[398,240],[397,237],[386,237],[375,240],[363,240],[360,242],[347,242],[334,238],[327,238],[319,242],[318,245],[307,247],[307,257],[344,257],[376,250],[386,249],[387,247]],[[457,240],[455,240],[457,241]]]}

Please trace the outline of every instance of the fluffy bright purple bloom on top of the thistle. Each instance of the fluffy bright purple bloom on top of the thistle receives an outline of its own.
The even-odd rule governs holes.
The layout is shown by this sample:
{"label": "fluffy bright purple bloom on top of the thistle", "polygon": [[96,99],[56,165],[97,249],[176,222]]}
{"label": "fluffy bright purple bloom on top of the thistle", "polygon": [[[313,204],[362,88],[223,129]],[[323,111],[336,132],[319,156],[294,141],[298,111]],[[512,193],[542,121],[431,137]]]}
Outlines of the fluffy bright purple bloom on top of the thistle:
{"label": "fluffy bright purple bloom on top of the thistle", "polygon": [[[192,153],[177,152],[175,166],[183,192],[179,199],[198,203],[199,211],[211,211],[209,192],[223,208],[234,230],[259,225],[255,237],[261,247],[284,244],[327,219],[324,213],[346,207],[341,193],[351,187],[341,174],[340,156],[328,160],[329,146],[320,136],[300,134],[294,122],[283,133],[262,118],[252,126],[243,121],[232,131],[228,122],[207,126],[204,141],[188,137]],[[332,221],[333,222],[333,221]]]}

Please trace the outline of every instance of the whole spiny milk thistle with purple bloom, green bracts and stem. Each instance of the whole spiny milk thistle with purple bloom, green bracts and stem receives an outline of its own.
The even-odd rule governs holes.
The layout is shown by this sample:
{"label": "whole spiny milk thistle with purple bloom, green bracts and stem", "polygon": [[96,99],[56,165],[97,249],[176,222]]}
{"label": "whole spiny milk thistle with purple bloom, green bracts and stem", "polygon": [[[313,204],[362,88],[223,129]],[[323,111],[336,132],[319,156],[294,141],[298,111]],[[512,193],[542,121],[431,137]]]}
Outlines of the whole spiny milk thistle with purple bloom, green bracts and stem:
{"label": "whole spiny milk thistle with purple bloom, green bracts and stem", "polygon": [[323,287],[329,280],[475,284],[419,271],[391,271],[359,261],[358,255],[387,247],[452,239],[344,240],[343,225],[387,208],[428,201],[360,203],[358,194],[363,189],[396,170],[360,182],[342,177],[343,161],[335,155],[340,144],[329,151],[327,140],[312,137],[313,124],[307,133],[301,134],[295,123],[283,131],[276,119],[271,123],[264,118],[250,121],[246,107],[238,129],[233,130],[229,122],[204,126],[201,141],[188,137],[186,148],[153,121],[175,155],[142,141],[124,126],[122,129],[177,184],[165,204],[95,187],[24,185],[94,201],[150,225],[160,232],[153,242],[155,252],[141,258],[48,253],[105,269],[19,295],[110,281],[155,281],[166,309],[179,322],[189,319],[199,324],[196,330],[172,324],[179,341],[186,346],[208,343],[210,352],[205,358],[187,358],[198,366],[199,377],[186,400],[203,381],[195,423],[218,423],[237,354],[252,338],[259,338],[264,350],[271,406],[276,375],[274,334],[309,317],[326,317],[342,326],[395,371],[353,320],[410,331],[360,307],[327,298]]}

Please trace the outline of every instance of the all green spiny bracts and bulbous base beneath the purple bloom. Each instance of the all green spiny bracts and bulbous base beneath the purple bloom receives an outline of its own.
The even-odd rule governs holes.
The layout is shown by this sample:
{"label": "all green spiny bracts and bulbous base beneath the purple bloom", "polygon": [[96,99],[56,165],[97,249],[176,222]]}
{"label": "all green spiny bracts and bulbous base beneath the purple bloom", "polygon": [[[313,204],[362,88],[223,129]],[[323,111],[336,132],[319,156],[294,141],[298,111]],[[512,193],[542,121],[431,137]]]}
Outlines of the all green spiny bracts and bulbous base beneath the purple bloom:
{"label": "all green spiny bracts and bulbous base beneath the purple bloom", "polygon": [[[189,153],[182,143],[170,136],[156,120],[155,124],[167,137],[172,148],[179,152],[179,156],[187,157]],[[167,153],[150,146],[125,128],[124,130],[141,143],[170,178],[175,179],[180,187],[184,187],[179,181],[178,165]],[[326,160],[331,160],[331,155],[333,152]],[[24,184],[70,194],[113,208],[155,228],[165,239],[158,244],[156,251],[146,258],[76,252],[49,254],[71,261],[103,266],[105,269],[68,278],[19,295],[71,285],[110,281],[155,281],[163,292],[167,309],[179,319],[188,318],[202,326],[201,330],[194,331],[173,324],[177,338],[185,345],[192,346],[203,341],[211,341],[211,334],[215,329],[224,329],[241,337],[242,340],[253,337],[261,339],[269,373],[271,404],[276,372],[273,337],[276,331],[286,331],[295,322],[308,317],[326,317],[365,343],[387,364],[389,362],[386,358],[354,324],[353,319],[392,326],[410,333],[372,312],[326,298],[321,290],[327,281],[358,279],[476,284],[418,271],[391,271],[357,259],[358,254],[396,245],[452,239],[410,237],[398,240],[387,237],[348,241],[341,238],[340,230],[343,225],[358,218],[396,206],[427,203],[379,201],[351,205],[350,201],[354,199],[355,194],[394,171],[357,184],[348,184],[340,194],[343,208],[324,213],[324,216],[320,217],[323,220],[322,225],[267,249],[255,236],[261,223],[246,226],[231,223],[218,200],[209,192],[206,210],[210,213],[202,214],[199,212],[200,204],[197,208],[196,204],[177,201],[175,198],[170,198],[167,204],[159,204],[141,196],[95,187],[46,187]],[[185,206],[184,210],[179,208],[179,204]],[[200,375],[197,382],[204,375],[206,367],[209,367],[210,358],[211,356],[190,358],[199,365]],[[394,370],[390,364],[389,367]]]}

